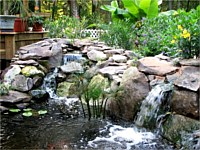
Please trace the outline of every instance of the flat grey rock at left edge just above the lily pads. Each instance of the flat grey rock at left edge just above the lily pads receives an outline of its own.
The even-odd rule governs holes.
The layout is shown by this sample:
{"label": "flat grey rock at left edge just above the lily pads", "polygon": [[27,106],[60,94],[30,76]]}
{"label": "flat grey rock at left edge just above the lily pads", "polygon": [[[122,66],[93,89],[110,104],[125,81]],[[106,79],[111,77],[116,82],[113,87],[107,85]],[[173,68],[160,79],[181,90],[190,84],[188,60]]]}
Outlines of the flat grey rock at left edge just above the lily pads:
{"label": "flat grey rock at left edge just above the lily pads", "polygon": [[30,95],[18,91],[9,91],[9,95],[4,95],[0,97],[1,103],[29,102],[30,100]]}

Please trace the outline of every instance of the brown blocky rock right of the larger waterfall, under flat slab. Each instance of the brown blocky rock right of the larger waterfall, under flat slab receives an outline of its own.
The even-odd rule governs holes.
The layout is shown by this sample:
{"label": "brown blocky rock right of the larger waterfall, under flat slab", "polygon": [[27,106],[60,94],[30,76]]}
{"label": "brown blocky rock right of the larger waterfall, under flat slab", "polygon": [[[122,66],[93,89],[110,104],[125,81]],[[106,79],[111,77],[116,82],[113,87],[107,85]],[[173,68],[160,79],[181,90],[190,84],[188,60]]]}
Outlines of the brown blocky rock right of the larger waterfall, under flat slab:
{"label": "brown blocky rock right of the larger waterfall, under flat slab", "polygon": [[199,116],[198,94],[188,90],[175,89],[171,99],[171,108],[174,112],[190,118],[198,119]]}

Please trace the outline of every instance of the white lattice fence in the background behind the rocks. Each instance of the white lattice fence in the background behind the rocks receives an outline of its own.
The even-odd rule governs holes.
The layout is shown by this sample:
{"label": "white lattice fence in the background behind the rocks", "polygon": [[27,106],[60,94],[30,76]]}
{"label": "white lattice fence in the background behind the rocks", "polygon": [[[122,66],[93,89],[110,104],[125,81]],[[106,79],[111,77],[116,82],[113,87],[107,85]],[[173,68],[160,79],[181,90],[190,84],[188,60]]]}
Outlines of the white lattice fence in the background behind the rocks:
{"label": "white lattice fence in the background behind the rocks", "polygon": [[105,32],[104,30],[99,29],[85,29],[81,31],[82,36],[89,36],[92,38],[99,38],[99,36]]}

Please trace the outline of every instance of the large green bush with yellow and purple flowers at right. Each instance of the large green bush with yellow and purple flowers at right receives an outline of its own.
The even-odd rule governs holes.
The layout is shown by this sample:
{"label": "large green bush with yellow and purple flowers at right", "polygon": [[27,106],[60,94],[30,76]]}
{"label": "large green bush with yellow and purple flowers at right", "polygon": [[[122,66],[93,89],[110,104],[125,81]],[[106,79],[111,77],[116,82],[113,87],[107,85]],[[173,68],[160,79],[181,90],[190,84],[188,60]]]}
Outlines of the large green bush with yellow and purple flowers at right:
{"label": "large green bush with yellow and purple flowers at right", "polygon": [[168,11],[156,18],[142,20],[135,26],[138,51],[143,56],[164,52],[172,57],[198,57],[199,13],[198,7],[190,12]]}

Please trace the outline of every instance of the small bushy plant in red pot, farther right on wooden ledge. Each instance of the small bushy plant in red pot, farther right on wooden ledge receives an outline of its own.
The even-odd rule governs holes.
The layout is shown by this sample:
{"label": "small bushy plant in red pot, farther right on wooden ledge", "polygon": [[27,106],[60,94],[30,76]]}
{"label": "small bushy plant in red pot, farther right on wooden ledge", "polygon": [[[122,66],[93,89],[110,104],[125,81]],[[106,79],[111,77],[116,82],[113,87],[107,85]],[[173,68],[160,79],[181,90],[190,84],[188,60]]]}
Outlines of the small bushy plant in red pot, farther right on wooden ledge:
{"label": "small bushy plant in red pot, farther right on wooden ledge", "polygon": [[42,31],[43,23],[44,18],[42,16],[33,14],[28,18],[28,24],[33,27],[33,31]]}

